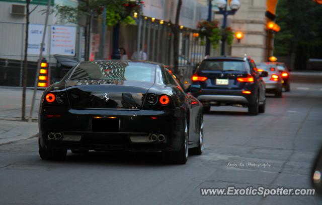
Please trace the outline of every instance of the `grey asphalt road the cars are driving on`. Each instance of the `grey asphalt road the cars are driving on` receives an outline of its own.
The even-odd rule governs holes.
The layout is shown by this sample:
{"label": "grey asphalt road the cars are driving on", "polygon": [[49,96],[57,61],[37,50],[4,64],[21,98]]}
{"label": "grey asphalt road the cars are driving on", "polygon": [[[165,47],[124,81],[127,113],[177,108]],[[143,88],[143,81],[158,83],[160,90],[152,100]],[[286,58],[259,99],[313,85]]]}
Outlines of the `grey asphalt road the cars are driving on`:
{"label": "grey asphalt road the cars are driving on", "polygon": [[158,154],[116,152],[69,152],[66,161],[52,162],[39,158],[36,138],[2,145],[0,204],[320,204],[317,196],[200,194],[200,188],[228,185],[311,187],[312,160],[322,145],[322,78],[308,84],[299,75],[301,83],[283,98],[268,97],[265,114],[212,107],[204,116],[204,154],[186,165],[164,163]]}

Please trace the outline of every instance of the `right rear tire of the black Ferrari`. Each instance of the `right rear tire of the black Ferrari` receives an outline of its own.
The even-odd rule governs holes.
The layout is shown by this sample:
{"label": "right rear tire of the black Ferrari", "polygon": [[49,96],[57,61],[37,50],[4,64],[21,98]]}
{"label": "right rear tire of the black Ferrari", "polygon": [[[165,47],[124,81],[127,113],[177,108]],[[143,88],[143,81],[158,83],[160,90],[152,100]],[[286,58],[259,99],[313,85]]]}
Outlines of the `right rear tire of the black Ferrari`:
{"label": "right rear tire of the black Ferrari", "polygon": [[182,137],[182,143],[181,143],[181,148],[179,151],[173,151],[173,152],[165,152],[164,157],[166,158],[166,161],[176,163],[176,164],[185,164],[188,160],[188,123],[187,119],[185,120],[185,128],[183,132],[183,137]]}

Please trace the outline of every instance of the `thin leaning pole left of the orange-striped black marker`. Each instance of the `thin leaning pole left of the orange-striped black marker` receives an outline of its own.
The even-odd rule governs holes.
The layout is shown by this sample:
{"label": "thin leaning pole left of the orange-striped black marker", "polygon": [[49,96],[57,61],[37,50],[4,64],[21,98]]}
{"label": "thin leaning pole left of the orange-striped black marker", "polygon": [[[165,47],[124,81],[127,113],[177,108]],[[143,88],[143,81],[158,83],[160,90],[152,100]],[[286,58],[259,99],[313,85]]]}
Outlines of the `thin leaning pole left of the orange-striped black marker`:
{"label": "thin leaning pole left of the orange-striped black marker", "polygon": [[33,95],[32,95],[31,108],[30,108],[28,122],[31,122],[32,121],[32,113],[34,111],[34,106],[35,106],[35,98],[36,98],[36,91],[37,91],[37,87],[38,87],[39,71],[40,71],[40,65],[41,65],[41,60],[42,60],[42,52],[44,50],[44,42],[45,42],[45,37],[46,37],[47,25],[48,25],[48,16],[49,16],[49,10],[50,10],[50,2],[51,2],[51,0],[48,0],[47,10],[46,10],[46,18],[45,18],[45,26],[44,26],[44,32],[42,34],[42,40],[41,40],[41,44],[40,44],[40,54],[39,54],[39,59],[38,59],[38,66],[37,66],[36,79],[35,79],[35,86],[34,86],[34,92],[33,92]]}

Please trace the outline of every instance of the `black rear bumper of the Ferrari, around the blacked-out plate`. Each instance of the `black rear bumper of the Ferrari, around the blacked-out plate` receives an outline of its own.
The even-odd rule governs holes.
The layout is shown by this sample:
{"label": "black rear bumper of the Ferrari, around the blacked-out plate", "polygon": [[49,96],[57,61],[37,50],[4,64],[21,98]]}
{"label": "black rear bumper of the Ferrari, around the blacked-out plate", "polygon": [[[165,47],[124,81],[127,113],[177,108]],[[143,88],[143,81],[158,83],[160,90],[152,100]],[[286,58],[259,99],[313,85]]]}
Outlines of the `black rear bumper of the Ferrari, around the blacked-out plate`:
{"label": "black rear bumper of the Ferrari, around the blacked-out plate", "polygon": [[[39,116],[39,137],[43,147],[65,149],[165,151],[179,150],[185,113],[178,110],[68,110],[60,117]],[[116,117],[118,132],[94,132],[94,117]],[[154,119],[152,119],[152,117]],[[108,126],[108,125],[107,125]],[[61,140],[48,133],[62,133]],[[163,134],[163,141],[150,141],[151,134]]]}

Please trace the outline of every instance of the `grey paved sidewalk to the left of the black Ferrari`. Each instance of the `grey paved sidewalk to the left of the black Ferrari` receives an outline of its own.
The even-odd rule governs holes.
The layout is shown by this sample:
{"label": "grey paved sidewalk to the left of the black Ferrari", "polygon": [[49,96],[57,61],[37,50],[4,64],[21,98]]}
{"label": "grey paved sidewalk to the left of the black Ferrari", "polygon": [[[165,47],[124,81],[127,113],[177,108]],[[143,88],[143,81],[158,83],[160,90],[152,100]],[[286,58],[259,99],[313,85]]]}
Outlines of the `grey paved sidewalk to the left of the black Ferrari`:
{"label": "grey paved sidewalk to the left of the black Ferrari", "polygon": [[[26,118],[31,107],[33,90],[26,92]],[[38,136],[38,109],[42,90],[37,91],[33,122],[21,121],[22,88],[0,88],[0,145]]]}

